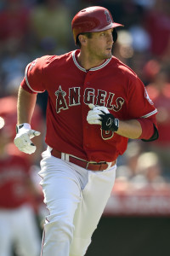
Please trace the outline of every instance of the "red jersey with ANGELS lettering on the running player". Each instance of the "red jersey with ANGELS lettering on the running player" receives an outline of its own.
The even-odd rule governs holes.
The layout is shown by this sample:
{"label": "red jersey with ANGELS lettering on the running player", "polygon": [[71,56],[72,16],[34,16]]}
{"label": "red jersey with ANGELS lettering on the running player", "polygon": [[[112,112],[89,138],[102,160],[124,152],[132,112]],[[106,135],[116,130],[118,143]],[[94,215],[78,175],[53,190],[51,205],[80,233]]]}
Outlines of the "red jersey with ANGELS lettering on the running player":
{"label": "red jersey with ANGELS lettering on the running player", "polygon": [[116,160],[126,150],[128,139],[102,131],[100,125],[89,125],[88,104],[105,106],[121,120],[153,122],[156,108],[137,75],[116,57],[87,71],[78,64],[78,53],[32,61],[21,86],[31,93],[48,91],[48,146],[84,160]]}

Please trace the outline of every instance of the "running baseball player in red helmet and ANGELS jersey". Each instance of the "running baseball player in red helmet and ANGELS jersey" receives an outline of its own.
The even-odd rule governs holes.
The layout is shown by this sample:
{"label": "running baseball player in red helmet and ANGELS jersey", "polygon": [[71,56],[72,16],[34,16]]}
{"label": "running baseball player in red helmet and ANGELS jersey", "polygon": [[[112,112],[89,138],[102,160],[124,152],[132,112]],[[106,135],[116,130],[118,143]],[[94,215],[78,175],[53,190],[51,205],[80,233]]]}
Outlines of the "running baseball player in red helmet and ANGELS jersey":
{"label": "running baseball player in red helmet and ANGELS jersey", "polygon": [[128,138],[156,140],[156,108],[144,84],[111,54],[116,27],[108,9],[82,9],[71,22],[80,49],[45,55],[20,84],[15,145],[32,154],[37,93],[48,91],[48,148],[41,171],[46,217],[42,256],[85,255],[115,181]]}

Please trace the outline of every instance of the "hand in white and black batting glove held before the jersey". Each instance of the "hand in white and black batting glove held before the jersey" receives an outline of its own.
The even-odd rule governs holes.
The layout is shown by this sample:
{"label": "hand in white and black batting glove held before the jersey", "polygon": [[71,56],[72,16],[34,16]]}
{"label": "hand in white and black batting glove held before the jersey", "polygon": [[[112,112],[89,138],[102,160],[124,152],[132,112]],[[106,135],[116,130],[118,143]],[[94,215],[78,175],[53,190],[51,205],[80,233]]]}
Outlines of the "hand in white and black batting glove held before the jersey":
{"label": "hand in white and black batting glove held before the jersey", "polygon": [[105,131],[117,131],[119,128],[119,119],[116,119],[108,108],[93,104],[88,105],[91,110],[88,111],[87,121],[90,125],[101,125]]}

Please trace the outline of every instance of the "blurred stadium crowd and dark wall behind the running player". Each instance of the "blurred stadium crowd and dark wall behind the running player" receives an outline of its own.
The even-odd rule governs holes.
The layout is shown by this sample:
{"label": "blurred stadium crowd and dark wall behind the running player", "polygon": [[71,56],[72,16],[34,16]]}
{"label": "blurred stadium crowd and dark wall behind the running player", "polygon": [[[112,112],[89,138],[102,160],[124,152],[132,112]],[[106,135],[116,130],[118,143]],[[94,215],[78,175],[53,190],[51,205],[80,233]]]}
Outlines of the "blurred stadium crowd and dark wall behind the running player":
{"label": "blurred stadium crowd and dark wall behind the running player", "polygon": [[[0,153],[20,155],[14,148],[17,90],[28,62],[41,55],[61,55],[76,49],[71,19],[90,5],[110,9],[118,40],[113,55],[144,82],[158,110],[160,137],[156,142],[129,141],[118,159],[116,183],[87,256],[168,256],[170,230],[170,1],[169,0],[1,0],[0,1]],[[37,154],[27,158],[37,227],[42,234],[46,209],[39,187],[39,160],[46,145],[47,94],[38,95],[32,119]],[[3,140],[3,138],[5,138]],[[37,140],[37,141],[36,141]],[[5,147],[4,147],[5,145]],[[5,149],[4,149],[5,148]],[[3,160],[3,154],[0,158]],[[8,170],[7,170],[8,171]],[[1,164],[0,164],[1,177]],[[0,194],[2,194],[0,182]],[[3,210],[0,197],[0,212]],[[1,218],[1,217],[0,217]],[[90,216],[89,216],[90,218]],[[1,220],[0,220],[1,221]],[[0,230],[1,232],[1,230]],[[0,241],[1,244],[1,241]],[[1,251],[1,246],[0,246]],[[0,253],[1,255],[1,253]],[[14,255],[20,251],[14,249]]]}

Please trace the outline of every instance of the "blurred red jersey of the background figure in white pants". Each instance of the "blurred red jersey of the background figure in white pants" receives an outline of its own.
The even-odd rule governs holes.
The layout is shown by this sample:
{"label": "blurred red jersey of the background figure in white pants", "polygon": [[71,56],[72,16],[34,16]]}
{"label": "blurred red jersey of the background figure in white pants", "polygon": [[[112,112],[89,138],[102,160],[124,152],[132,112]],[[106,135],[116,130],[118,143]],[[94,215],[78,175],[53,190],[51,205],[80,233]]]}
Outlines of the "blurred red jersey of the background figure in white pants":
{"label": "blurred red jersey of the background figure in white pants", "polygon": [[26,180],[30,165],[15,154],[0,158],[0,208],[15,208],[31,200]]}

